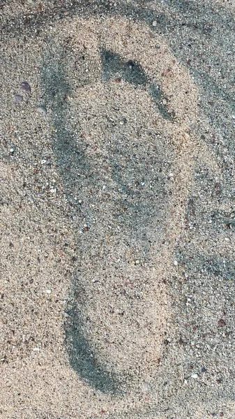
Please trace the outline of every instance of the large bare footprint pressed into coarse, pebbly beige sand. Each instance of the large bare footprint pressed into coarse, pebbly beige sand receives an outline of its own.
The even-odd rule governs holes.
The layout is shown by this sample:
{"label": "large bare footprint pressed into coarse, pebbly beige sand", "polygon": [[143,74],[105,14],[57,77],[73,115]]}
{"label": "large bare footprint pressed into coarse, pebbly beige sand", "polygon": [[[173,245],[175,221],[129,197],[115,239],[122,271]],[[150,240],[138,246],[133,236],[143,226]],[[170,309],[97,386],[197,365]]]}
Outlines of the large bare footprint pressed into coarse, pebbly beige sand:
{"label": "large bare footprint pressed into coarse, pebbly beige sand", "polygon": [[[75,21],[76,22],[76,21]],[[41,71],[63,188],[75,205],[70,365],[90,385],[138,385],[162,353],[192,170],[197,94],[145,25],[61,25]],[[68,48],[69,43],[69,48]],[[134,385],[134,386],[135,386]]]}

